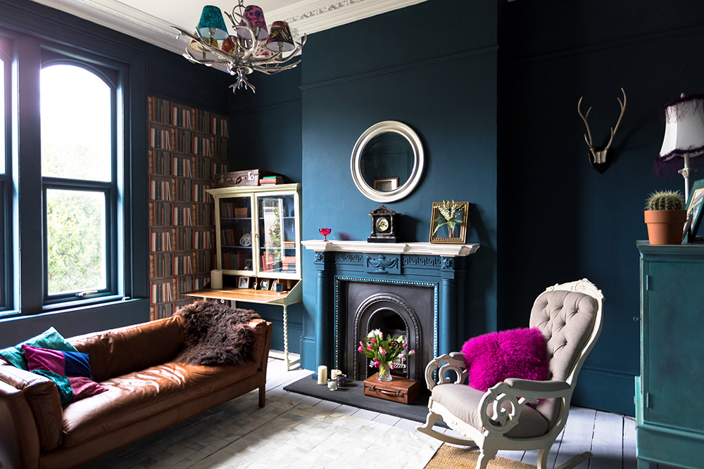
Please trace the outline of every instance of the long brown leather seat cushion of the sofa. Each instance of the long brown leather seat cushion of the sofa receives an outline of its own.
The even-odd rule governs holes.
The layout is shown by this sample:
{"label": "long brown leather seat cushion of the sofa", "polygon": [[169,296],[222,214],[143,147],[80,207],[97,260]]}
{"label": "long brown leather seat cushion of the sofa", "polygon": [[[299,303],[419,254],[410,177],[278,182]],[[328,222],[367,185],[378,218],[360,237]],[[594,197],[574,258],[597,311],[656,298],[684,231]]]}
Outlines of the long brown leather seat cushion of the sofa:
{"label": "long brown leather seat cushion of the sofa", "polygon": [[90,399],[73,402],[63,412],[63,447],[89,442],[255,375],[258,364],[201,366],[168,362],[102,381],[108,388]]}

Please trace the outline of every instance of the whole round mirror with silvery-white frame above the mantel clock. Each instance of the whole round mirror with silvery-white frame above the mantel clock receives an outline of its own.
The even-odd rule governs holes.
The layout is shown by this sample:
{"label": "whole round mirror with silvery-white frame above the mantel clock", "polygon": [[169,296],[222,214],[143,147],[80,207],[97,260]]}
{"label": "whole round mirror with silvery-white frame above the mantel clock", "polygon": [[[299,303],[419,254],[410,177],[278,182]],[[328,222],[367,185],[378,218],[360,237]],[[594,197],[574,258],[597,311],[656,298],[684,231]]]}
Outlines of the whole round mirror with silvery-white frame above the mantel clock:
{"label": "whole round mirror with silvery-white frame above the mantel clock", "polygon": [[406,124],[372,125],[355,143],[350,161],[354,184],[367,198],[394,202],[413,192],[423,172],[423,146]]}

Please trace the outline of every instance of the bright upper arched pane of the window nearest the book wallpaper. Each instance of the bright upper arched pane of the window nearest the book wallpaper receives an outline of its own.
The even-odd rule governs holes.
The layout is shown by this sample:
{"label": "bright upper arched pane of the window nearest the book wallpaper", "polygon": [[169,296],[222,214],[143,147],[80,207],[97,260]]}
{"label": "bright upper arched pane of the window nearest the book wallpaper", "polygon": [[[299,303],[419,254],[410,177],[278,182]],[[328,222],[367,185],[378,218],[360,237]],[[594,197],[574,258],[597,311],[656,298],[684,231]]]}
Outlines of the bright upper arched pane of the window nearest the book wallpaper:
{"label": "bright upper arched pane of the window nearest the book wallpaper", "polygon": [[42,69],[42,176],[111,181],[111,90],[74,65]]}

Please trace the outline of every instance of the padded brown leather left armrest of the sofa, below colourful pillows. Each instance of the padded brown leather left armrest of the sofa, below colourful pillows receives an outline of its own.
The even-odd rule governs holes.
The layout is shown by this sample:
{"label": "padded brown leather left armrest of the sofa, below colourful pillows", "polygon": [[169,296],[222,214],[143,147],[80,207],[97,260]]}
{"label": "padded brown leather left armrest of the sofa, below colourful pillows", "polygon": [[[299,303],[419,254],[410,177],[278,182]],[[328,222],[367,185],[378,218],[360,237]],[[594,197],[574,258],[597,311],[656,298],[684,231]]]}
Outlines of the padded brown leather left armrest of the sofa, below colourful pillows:
{"label": "padded brown leather left armrest of the sofa, below colourful pillows", "polygon": [[63,407],[54,381],[22,368],[0,364],[0,382],[25,397],[39,435],[39,447],[44,451],[57,448],[63,442]]}

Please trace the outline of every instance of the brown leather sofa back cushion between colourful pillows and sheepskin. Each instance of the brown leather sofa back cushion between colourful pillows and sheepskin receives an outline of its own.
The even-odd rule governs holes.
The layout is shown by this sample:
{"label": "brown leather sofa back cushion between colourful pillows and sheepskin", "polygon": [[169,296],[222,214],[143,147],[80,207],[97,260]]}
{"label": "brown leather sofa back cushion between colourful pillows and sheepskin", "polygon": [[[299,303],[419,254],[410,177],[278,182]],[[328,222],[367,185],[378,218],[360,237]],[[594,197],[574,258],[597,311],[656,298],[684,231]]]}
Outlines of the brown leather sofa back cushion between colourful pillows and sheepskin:
{"label": "brown leather sofa back cushion between colourful pillows and sheepskin", "polygon": [[79,352],[90,355],[93,379],[100,383],[170,361],[183,339],[182,328],[172,316],[69,340]]}

